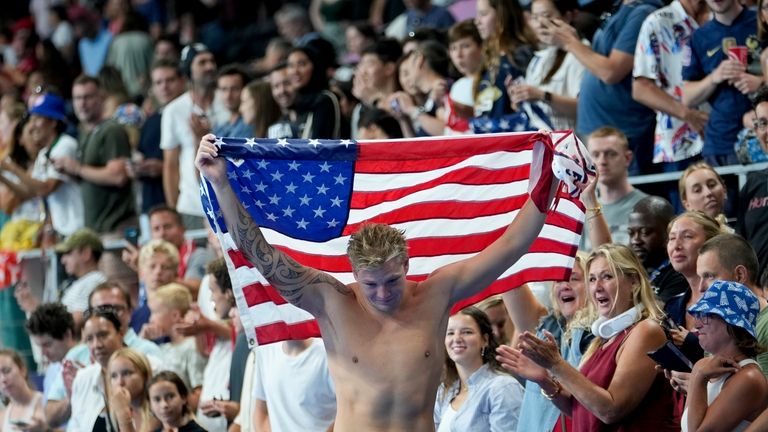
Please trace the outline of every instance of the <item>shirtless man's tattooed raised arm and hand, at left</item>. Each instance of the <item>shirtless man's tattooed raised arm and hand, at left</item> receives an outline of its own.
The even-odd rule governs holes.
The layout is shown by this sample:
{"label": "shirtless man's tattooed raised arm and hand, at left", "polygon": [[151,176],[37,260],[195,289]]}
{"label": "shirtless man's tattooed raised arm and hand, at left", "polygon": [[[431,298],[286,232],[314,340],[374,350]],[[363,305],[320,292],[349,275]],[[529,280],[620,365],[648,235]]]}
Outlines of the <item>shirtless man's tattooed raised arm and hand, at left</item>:
{"label": "shirtless man's tattooed raised arm and hand, at left", "polygon": [[217,157],[215,138],[212,134],[202,138],[195,165],[213,185],[232,240],[286,300],[317,317],[322,312],[323,296],[332,292],[329,288],[341,294],[348,294],[349,289],[330,275],[299,264],[266,241],[229,185],[226,161]]}

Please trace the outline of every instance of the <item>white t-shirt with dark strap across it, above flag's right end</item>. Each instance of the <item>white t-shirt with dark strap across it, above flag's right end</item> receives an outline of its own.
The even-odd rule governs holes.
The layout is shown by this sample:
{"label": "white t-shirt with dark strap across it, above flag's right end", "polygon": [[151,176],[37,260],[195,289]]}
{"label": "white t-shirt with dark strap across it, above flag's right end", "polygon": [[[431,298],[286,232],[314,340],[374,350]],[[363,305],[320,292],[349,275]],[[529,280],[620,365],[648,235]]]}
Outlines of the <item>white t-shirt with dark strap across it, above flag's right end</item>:
{"label": "white t-shirt with dark strap across it, above flag's right end", "polygon": [[[542,84],[544,77],[547,76],[547,73],[555,63],[556,58],[557,47],[551,46],[536,51],[525,71],[525,83],[552,94],[571,98],[577,97],[579,95],[579,90],[581,89],[581,77],[584,75],[584,65],[582,65],[581,62],[576,59],[576,56],[571,53],[565,55],[563,63],[557,69],[557,72],[552,75],[552,78],[550,78],[546,84]],[[575,119],[557,115],[549,104],[544,103],[543,101],[531,103],[536,104],[542,111],[544,111],[544,114],[549,116],[549,120],[552,122],[554,130],[576,128]],[[531,115],[530,106],[525,105],[525,107],[528,114]],[[539,125],[539,127],[542,127],[542,125]],[[543,127],[546,126],[544,125]]]}

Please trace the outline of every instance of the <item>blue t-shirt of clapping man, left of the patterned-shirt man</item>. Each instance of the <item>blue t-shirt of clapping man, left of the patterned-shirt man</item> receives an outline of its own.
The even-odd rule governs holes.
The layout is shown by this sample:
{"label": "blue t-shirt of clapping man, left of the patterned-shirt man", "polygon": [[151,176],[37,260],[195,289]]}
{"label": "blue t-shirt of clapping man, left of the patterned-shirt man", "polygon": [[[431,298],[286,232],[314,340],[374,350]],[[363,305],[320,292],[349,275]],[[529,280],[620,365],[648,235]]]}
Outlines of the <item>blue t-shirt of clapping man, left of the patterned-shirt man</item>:
{"label": "blue t-shirt of clapping man, left of the patterned-shirt man", "polygon": [[[613,50],[634,55],[640,26],[651,12],[661,6],[658,0],[622,4],[595,33],[592,49],[606,57]],[[603,126],[613,126],[632,139],[653,136],[656,126],[656,113],[632,99],[631,71],[621,82],[606,84],[589,69],[585,70],[581,79],[578,113],[576,132],[581,136],[587,136]]]}

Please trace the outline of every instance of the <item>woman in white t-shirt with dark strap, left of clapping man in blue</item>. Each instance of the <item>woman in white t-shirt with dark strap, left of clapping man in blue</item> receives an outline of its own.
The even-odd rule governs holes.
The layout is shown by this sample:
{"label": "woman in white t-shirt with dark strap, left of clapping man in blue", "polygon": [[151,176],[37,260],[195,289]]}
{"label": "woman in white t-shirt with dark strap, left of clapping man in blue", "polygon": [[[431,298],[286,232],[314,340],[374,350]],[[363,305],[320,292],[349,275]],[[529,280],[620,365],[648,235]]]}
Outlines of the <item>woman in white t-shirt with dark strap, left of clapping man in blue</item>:
{"label": "woman in white t-shirt with dark strap, left of clapping man in blue", "polygon": [[549,26],[554,20],[568,25],[576,16],[576,0],[534,0],[529,23],[540,41],[528,63],[522,83],[507,84],[515,109],[524,109],[530,119],[541,119],[539,128],[573,129],[576,126],[577,96],[584,76],[582,65],[573,53],[554,45]]}

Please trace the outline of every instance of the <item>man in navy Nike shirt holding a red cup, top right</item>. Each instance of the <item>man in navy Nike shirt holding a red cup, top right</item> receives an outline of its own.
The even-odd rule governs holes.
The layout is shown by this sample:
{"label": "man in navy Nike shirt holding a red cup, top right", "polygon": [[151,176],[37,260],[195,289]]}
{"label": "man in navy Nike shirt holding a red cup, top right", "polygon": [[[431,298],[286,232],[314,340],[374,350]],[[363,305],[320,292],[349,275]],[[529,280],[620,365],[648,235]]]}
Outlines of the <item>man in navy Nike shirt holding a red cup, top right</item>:
{"label": "man in navy Nike shirt holding a red cup, top right", "polygon": [[[702,156],[713,167],[738,163],[733,151],[741,130],[741,116],[749,110],[747,95],[758,89],[762,77],[751,74],[747,66],[759,61],[764,46],[755,39],[756,12],[736,0],[708,0],[713,18],[691,37],[689,61],[683,64],[683,103],[689,107],[709,102],[712,110],[704,129]],[[745,63],[729,57],[733,46],[749,50]]]}

